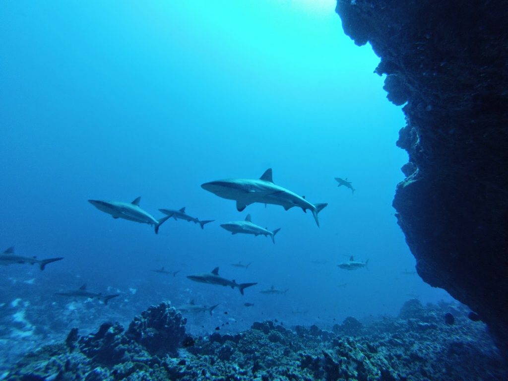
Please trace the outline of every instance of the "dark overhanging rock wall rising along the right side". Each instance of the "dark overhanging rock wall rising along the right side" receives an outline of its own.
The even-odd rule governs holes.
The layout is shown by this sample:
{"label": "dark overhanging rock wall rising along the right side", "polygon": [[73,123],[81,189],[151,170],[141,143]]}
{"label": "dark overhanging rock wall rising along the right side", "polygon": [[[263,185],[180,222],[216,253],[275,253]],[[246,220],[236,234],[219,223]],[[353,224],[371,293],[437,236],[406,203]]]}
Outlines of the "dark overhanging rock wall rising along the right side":
{"label": "dark overhanging rock wall rising along the right side", "polygon": [[508,358],[508,3],[339,0],[370,42],[409,154],[393,205],[420,276],[477,311]]}

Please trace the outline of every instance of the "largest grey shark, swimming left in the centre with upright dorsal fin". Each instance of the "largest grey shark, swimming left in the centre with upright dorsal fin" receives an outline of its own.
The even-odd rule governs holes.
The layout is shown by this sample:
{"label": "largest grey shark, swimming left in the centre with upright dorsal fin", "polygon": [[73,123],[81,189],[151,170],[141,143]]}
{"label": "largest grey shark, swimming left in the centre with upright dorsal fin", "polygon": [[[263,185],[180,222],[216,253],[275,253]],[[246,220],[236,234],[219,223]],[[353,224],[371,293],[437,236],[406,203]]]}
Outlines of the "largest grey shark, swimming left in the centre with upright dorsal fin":
{"label": "largest grey shark, swimming left in the centre with upright dorsal fin", "polygon": [[302,208],[304,212],[310,210],[317,227],[319,227],[317,213],[328,205],[326,203],[311,204],[305,200],[304,196],[298,196],[291,190],[274,184],[271,168],[267,169],[259,179],[217,180],[205,182],[201,187],[223,199],[235,200],[236,209],[239,212],[253,203],[280,205],[285,210],[295,206]]}

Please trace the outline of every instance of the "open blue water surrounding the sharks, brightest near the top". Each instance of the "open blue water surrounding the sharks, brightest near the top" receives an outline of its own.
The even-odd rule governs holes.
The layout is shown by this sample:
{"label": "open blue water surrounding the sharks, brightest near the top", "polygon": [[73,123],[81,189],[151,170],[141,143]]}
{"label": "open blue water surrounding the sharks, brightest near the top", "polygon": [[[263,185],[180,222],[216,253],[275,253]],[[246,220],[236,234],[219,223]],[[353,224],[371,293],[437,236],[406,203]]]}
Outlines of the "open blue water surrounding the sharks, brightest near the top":
{"label": "open blue water surrounding the sharks, brightest near the top", "polygon": [[[114,313],[129,321],[165,299],[194,299],[220,308],[190,315],[191,328],[230,322],[234,330],[261,319],[329,326],[348,315],[396,314],[414,296],[450,299],[402,274],[415,266],[391,205],[407,161],[395,146],[403,113],[373,74],[378,57],[344,35],[334,6],[0,2],[0,246],[65,257],[43,272],[0,268],[0,303],[19,298],[27,314],[41,304],[53,315],[79,311],[79,303],[90,309],[53,295],[87,283],[121,294],[93,307],[97,324]],[[267,168],[276,184],[329,203],[321,228],[301,209],[255,204],[238,212],[200,187],[258,178]],[[355,194],[334,177],[350,179]],[[185,206],[215,221],[201,230],[170,219],[155,235],[87,202],[138,196],[156,218],[158,208]],[[247,213],[281,228],[275,245],[219,227]],[[336,266],[350,256],[368,259],[368,269]],[[252,264],[231,266],[238,261]],[[151,272],[163,266],[181,272]],[[226,278],[258,284],[241,296],[185,277],[216,266]],[[271,285],[289,291],[259,293]]]}

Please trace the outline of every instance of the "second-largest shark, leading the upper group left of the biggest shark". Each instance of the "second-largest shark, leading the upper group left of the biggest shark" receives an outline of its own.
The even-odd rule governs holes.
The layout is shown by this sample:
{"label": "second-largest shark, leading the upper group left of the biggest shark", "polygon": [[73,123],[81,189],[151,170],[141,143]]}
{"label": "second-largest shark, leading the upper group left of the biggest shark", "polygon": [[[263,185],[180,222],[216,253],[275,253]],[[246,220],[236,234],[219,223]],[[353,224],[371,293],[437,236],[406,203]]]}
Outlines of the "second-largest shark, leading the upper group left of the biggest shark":
{"label": "second-largest shark, leading the upper group left of the biggest shark", "polygon": [[158,233],[158,228],[164,224],[169,216],[161,219],[155,219],[151,214],[144,211],[139,207],[141,197],[138,197],[131,203],[120,201],[101,201],[101,200],[88,200],[90,204],[104,213],[111,214],[113,218],[123,218],[130,221],[135,221],[140,224],[148,224],[155,226],[155,234]]}

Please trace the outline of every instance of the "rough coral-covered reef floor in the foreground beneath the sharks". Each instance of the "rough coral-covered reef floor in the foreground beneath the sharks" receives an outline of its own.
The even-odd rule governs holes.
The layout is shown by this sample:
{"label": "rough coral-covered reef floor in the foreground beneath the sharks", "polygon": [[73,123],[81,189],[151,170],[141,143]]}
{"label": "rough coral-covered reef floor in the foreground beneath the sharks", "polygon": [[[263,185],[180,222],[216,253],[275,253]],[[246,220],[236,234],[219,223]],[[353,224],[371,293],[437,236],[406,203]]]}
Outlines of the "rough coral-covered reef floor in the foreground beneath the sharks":
{"label": "rough coral-covered reef floor in the foreground beneath the sharks", "polygon": [[[128,328],[71,330],[65,342],[28,353],[9,380],[506,380],[508,368],[482,322],[457,303],[406,302],[397,317],[347,317],[331,330],[253,323],[237,334],[192,337],[161,303]],[[451,313],[448,322],[444,316]]]}

